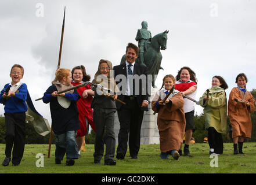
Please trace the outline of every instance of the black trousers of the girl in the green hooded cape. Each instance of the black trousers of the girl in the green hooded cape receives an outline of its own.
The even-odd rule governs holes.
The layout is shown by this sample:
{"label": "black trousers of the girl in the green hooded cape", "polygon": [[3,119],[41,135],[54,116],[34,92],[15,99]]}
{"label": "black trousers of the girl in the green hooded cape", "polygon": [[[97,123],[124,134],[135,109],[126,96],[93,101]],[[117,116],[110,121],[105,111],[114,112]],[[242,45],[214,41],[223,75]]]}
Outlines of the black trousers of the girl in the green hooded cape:
{"label": "black trousers of the girl in the green hooded cape", "polygon": [[214,127],[208,128],[208,144],[214,153],[223,153],[223,139],[221,133],[217,132]]}

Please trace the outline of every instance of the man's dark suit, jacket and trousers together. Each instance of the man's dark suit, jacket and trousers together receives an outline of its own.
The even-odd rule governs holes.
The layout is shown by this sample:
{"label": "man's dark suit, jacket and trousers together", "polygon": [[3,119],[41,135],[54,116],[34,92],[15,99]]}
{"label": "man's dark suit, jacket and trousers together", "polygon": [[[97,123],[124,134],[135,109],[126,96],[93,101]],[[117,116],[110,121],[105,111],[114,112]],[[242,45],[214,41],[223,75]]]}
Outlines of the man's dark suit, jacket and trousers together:
{"label": "man's dark suit, jacket and trousers together", "polygon": [[[139,65],[135,62],[133,74],[138,76],[145,75],[146,83],[139,80],[139,86],[135,86],[135,95],[132,97],[129,97],[122,92],[122,88],[125,88],[124,91],[126,91],[126,87],[120,86],[120,91],[122,94],[118,95],[118,99],[124,101],[126,105],[122,105],[120,102],[116,101],[118,119],[120,122],[117,154],[122,153],[125,156],[127,152],[127,142],[129,139],[129,151],[131,157],[138,156],[140,146],[140,128],[142,125],[143,113],[144,111],[149,110],[147,106],[143,108],[141,107],[142,102],[144,100],[148,101],[149,99],[148,92],[142,91],[144,86],[146,87],[144,90],[147,91],[147,73],[148,71],[146,66]],[[124,83],[122,82],[123,79],[120,81],[117,80],[118,75],[125,75],[125,80],[127,79],[127,66],[125,63],[114,66],[114,76],[117,85],[119,83]]]}

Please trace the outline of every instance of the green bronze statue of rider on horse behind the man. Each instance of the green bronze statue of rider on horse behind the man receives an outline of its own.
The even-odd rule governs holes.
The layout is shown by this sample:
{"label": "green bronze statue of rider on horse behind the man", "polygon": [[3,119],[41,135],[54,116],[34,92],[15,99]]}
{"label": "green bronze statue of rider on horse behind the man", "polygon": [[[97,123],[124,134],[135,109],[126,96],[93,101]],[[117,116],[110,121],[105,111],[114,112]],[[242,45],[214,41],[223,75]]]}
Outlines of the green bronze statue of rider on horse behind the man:
{"label": "green bronze statue of rider on horse behind the man", "polygon": [[[167,34],[169,31],[164,31],[155,36],[147,30],[147,22],[142,21],[142,28],[138,29],[135,40],[138,41],[139,54],[135,62],[140,65],[146,65],[149,70],[149,75],[152,75],[152,86],[155,87],[156,76],[161,67],[162,54],[160,50],[165,50],[167,47]],[[122,56],[120,64],[125,62],[125,54]]]}

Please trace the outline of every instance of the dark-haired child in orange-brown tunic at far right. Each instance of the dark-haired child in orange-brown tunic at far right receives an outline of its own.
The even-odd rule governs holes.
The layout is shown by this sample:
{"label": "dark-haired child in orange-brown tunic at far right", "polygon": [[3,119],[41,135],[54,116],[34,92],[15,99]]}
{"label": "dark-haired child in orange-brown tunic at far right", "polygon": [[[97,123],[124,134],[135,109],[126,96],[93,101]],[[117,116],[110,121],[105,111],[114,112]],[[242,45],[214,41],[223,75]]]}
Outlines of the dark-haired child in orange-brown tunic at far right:
{"label": "dark-haired child in orange-brown tunic at far right", "polygon": [[234,154],[243,154],[244,138],[251,138],[250,113],[254,112],[255,105],[253,95],[246,90],[247,77],[244,73],[237,75],[236,83],[237,87],[232,88],[229,94],[228,116],[233,129]]}

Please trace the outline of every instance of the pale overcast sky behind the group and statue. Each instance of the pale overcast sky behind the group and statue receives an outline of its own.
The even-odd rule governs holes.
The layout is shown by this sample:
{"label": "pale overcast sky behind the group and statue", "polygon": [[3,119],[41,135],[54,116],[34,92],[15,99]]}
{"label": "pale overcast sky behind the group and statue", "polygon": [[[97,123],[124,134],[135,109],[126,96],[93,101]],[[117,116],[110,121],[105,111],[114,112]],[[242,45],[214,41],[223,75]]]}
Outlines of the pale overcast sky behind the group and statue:
{"label": "pale overcast sky behind the group and statue", "polygon": [[[0,85],[10,82],[13,64],[24,67],[33,101],[42,97],[54,79],[59,57],[64,6],[66,23],[62,68],[84,65],[93,76],[99,60],[120,64],[128,42],[137,44],[137,29],[147,21],[152,36],[169,30],[167,49],[161,51],[164,75],[177,75],[182,66],[196,72],[196,99],[211,87],[214,75],[236,87],[240,72],[248,77],[247,90],[256,88],[256,1],[168,0],[168,1],[0,1]],[[49,105],[34,102],[51,123]],[[203,108],[196,105],[200,114]],[[3,105],[0,114],[3,114]]]}

